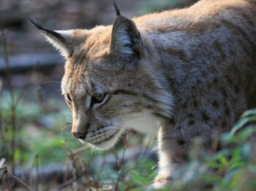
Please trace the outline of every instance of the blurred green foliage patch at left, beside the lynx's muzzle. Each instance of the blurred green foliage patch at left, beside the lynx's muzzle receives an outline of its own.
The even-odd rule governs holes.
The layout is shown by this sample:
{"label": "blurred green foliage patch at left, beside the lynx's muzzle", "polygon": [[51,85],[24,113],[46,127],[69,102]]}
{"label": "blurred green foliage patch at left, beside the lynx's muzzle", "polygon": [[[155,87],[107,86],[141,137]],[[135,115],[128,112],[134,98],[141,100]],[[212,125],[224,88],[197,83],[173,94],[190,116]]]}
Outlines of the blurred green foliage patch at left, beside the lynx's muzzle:
{"label": "blurred green foliage patch at left, beside the lynx's muzzle", "polygon": [[[16,90],[15,95],[19,95]],[[4,92],[1,97],[1,139],[0,158],[10,160],[12,134],[11,125],[11,100],[10,93]],[[63,101],[50,100],[48,105],[56,104],[57,109],[43,111],[38,101],[21,100],[16,108],[16,122],[18,129],[16,133],[15,161],[20,165],[29,163],[35,153],[44,164],[56,163],[65,158],[67,152],[63,149],[61,141],[68,140],[77,144],[76,140],[70,140],[67,131],[60,131],[67,120],[70,120],[70,112],[64,106]],[[74,147],[73,146],[73,147]]]}

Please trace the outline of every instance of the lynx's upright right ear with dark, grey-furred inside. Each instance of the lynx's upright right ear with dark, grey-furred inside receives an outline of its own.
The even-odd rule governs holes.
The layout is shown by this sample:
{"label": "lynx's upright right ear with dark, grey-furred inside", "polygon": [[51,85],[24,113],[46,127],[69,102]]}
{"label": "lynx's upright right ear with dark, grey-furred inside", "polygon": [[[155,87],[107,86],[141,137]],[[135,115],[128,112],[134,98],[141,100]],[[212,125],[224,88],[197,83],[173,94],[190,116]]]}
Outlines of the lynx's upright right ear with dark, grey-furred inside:
{"label": "lynx's upright right ear with dark, grey-furred inside", "polygon": [[132,20],[120,15],[119,11],[118,14],[113,23],[110,52],[119,53],[124,56],[139,56],[139,50],[142,45],[140,32]]}

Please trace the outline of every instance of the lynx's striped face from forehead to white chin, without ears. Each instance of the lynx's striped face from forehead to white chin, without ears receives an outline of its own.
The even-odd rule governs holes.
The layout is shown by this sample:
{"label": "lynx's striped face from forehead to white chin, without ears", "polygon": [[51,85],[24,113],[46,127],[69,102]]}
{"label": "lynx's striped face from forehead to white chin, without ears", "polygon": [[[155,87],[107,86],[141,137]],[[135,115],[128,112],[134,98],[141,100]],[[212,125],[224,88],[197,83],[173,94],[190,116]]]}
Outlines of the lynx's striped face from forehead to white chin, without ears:
{"label": "lynx's striped face from forehead to white chin, without ears", "polygon": [[[85,49],[80,52],[88,52]],[[136,68],[131,58],[118,61],[111,52],[102,58],[87,55],[83,61],[76,56],[81,57],[67,58],[61,85],[75,137],[97,149],[109,149],[127,128],[156,133],[161,121],[153,109],[157,87],[141,66]]]}

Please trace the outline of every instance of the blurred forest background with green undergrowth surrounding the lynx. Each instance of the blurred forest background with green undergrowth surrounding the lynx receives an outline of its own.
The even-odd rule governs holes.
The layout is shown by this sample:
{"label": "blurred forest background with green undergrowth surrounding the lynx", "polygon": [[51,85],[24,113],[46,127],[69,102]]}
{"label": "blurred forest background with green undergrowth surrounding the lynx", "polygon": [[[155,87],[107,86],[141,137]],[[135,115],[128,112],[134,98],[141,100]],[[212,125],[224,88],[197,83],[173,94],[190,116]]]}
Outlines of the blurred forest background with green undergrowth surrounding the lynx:
{"label": "blurred forest background with green undergrowth surrounding the lynx", "polygon": [[[123,15],[134,17],[193,3],[119,0],[118,6]],[[109,25],[116,17],[112,1],[1,0],[0,14],[0,190],[151,190],[157,175],[156,139],[129,132],[116,149],[98,152],[73,138],[60,91],[64,58],[26,20],[31,17],[52,30]],[[250,153],[256,148],[248,141],[255,126],[235,134],[255,114],[244,114],[213,146],[231,143],[237,146],[233,149],[206,154],[200,139],[195,141],[191,162],[165,190],[255,188]]]}

